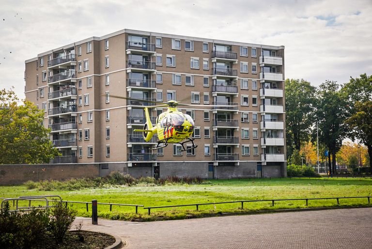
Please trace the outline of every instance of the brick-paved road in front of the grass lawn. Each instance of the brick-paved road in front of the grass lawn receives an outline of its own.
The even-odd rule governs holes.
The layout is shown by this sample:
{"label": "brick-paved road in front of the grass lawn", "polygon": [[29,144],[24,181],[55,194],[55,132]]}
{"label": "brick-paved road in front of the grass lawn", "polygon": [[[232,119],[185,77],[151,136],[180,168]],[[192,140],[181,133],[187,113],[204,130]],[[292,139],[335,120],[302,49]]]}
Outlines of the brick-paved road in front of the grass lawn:
{"label": "brick-paved road in front of the grass lawn", "polygon": [[358,208],[155,222],[99,219],[98,225],[77,218],[75,223],[120,236],[125,249],[371,249],[371,213],[372,208]]}

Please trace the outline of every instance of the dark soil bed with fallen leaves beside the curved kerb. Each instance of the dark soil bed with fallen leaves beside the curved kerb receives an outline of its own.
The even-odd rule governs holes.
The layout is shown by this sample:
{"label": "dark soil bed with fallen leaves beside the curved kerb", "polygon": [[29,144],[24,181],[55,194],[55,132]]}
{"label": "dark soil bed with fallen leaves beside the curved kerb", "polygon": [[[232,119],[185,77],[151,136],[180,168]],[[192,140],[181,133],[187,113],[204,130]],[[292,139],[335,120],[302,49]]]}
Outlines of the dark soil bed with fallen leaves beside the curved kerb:
{"label": "dark soil bed with fallen leaves beside the curved kerb", "polygon": [[56,245],[53,236],[47,235],[35,246],[35,249],[104,249],[115,243],[115,238],[100,232],[80,231],[84,241],[79,241],[78,232],[70,231],[62,244]]}

